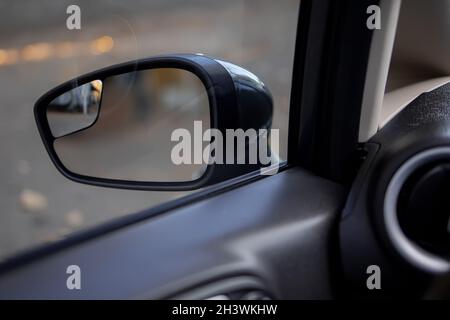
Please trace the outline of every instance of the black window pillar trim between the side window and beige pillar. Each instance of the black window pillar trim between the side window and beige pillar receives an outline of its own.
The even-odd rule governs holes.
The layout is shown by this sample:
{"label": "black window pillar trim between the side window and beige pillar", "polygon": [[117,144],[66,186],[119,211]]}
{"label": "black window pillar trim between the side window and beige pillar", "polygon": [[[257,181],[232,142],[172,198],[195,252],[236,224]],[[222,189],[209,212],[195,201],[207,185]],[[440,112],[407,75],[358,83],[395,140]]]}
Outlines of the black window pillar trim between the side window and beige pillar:
{"label": "black window pillar trim between the side window and beige pillar", "polygon": [[303,0],[289,116],[288,162],[347,186],[359,168],[358,134],[380,0]]}

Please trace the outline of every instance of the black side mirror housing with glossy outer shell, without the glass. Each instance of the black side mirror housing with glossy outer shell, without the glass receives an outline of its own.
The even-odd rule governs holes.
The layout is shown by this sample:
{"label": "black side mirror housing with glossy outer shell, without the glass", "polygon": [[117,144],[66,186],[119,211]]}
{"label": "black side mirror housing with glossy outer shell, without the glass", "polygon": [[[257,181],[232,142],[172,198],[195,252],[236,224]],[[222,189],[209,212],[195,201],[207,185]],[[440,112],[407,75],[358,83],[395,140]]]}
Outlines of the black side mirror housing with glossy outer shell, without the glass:
{"label": "black side mirror housing with glossy outer shell, without the glass", "polygon": [[[272,96],[252,73],[228,62],[198,54],[174,54],[130,61],[88,73],[44,94],[34,106],[39,133],[58,171],[68,179],[95,186],[158,191],[194,190],[258,170],[260,164],[208,164],[204,174],[193,181],[128,181],[97,178],[70,171],[55,151],[46,108],[58,96],[86,83],[125,73],[155,68],[175,68],[195,74],[206,88],[210,126],[225,135],[227,129],[270,129]],[[151,164],[149,164],[151,165]]]}

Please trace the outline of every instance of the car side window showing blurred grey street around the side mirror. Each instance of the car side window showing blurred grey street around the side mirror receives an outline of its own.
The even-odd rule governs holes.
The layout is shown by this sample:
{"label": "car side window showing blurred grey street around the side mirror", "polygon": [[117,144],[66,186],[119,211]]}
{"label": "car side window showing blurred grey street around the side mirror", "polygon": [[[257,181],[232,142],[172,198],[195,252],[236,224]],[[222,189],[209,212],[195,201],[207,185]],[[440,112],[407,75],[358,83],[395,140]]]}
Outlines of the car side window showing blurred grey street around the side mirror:
{"label": "car side window showing blurred grey street around the side mirror", "polygon": [[[68,21],[73,4],[80,29]],[[298,9],[299,0],[2,1],[0,257],[186,194],[103,189],[57,172],[32,107],[41,94],[80,74],[167,53],[232,62],[272,92],[272,127],[280,130],[285,159]]]}

